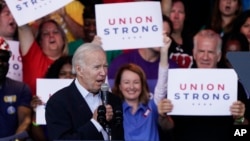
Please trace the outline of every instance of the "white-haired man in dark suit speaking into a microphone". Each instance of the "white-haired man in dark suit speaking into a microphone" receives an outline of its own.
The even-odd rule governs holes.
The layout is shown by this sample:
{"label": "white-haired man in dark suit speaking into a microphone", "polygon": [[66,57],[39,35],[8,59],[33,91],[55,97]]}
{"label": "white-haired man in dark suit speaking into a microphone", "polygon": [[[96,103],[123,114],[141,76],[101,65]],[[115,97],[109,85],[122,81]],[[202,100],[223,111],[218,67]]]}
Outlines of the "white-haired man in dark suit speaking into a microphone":
{"label": "white-haired man in dark suit speaking into a microphone", "polygon": [[[46,122],[50,140],[110,140],[106,127],[98,120],[102,99],[100,89],[107,75],[104,50],[94,43],[81,45],[74,53],[76,79],[50,97],[46,105]],[[123,140],[121,100],[108,93],[103,106],[104,118],[112,140]],[[99,122],[98,122],[99,121]]]}

